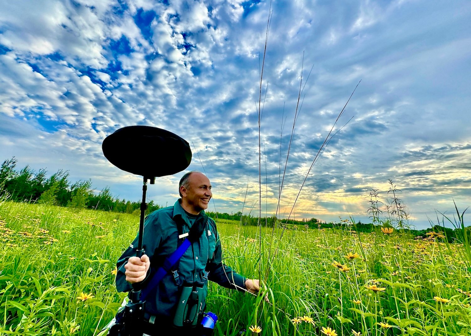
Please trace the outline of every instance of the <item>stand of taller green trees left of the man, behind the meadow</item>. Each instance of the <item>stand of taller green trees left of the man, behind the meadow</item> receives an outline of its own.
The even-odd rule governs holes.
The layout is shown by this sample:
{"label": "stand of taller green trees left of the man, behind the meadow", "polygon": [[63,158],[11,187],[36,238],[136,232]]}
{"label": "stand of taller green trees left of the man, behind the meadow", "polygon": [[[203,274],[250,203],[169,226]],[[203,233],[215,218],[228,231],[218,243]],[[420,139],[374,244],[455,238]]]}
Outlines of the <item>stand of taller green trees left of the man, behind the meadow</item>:
{"label": "stand of taller green trees left of the man, behind the meadow", "polygon": [[[69,172],[59,169],[47,177],[46,169],[34,171],[29,165],[17,170],[15,157],[4,160],[0,167],[0,197],[17,202],[43,203],[61,207],[89,208],[122,213],[139,212],[141,202],[113,196],[109,187],[95,193],[91,179],[71,183]],[[146,213],[160,208],[151,200]]]}

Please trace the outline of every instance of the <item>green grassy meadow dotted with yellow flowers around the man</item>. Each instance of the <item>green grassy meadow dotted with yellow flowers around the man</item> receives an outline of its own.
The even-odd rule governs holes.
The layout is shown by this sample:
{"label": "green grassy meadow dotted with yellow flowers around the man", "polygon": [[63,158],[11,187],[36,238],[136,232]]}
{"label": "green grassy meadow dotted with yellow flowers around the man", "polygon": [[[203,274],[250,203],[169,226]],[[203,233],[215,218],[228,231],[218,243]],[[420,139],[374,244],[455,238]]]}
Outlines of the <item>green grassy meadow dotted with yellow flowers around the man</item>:
{"label": "green grassy meadow dotted with yellow flowers around the man", "polygon": [[[115,262],[138,216],[0,202],[0,335],[97,335],[125,297]],[[270,302],[210,283],[215,335],[471,334],[469,248],[439,233],[218,230],[225,263],[262,279]]]}

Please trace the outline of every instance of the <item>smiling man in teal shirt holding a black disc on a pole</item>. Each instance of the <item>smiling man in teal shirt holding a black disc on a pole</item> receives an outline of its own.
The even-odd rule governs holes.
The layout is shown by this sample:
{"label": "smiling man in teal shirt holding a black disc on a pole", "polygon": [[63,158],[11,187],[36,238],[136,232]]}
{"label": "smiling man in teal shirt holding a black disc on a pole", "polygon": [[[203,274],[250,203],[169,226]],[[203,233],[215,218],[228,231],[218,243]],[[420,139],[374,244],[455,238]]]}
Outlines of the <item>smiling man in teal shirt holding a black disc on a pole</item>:
{"label": "smiling man in teal shirt holding a black disc on a pole", "polygon": [[136,238],[117,262],[118,291],[144,288],[152,278],[152,271],[155,272],[177,248],[179,234],[189,232],[195,223],[204,225],[199,239],[180,258],[178,270],[166,274],[147,296],[144,317],[149,322],[144,330],[149,335],[163,335],[164,330],[172,330],[178,305],[185,301],[179,300],[183,284],[202,284],[203,301],[198,303],[200,311],[205,307],[207,280],[253,294],[260,289],[259,280],[246,279],[222,264],[216,224],[204,213],[212,197],[209,179],[200,172],[191,171],[180,179],[179,194],[181,198],[172,207],[156,210],[146,217],[143,238],[146,255],[141,258],[133,256],[133,247],[137,246],[138,241]]}

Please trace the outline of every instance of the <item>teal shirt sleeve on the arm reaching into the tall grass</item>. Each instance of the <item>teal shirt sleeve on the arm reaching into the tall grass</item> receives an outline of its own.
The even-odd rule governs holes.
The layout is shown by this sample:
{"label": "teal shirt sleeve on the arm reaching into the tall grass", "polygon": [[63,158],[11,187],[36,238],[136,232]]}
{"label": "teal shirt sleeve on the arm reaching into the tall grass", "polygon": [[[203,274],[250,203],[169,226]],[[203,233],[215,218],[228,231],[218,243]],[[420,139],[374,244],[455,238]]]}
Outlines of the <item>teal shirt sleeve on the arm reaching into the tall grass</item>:
{"label": "teal shirt sleeve on the arm reaching into the tall grass", "polygon": [[236,273],[232,268],[222,263],[221,241],[216,232],[216,246],[212,259],[208,262],[206,271],[209,272],[208,280],[218,283],[222,287],[245,291],[246,278]]}

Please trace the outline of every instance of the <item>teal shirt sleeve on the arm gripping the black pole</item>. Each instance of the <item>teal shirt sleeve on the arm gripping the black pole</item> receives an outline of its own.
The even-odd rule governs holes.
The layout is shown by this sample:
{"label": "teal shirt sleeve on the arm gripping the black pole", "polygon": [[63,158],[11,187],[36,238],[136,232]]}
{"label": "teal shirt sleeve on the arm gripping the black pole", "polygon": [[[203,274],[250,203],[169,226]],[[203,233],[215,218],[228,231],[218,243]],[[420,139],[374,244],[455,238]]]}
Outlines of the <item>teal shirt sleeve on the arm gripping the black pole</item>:
{"label": "teal shirt sleeve on the arm gripping the black pole", "polygon": [[[145,254],[149,257],[150,260],[153,259],[154,253],[162,240],[162,230],[157,229],[157,220],[158,216],[151,214],[146,217],[144,222],[144,236],[142,239],[142,246],[144,248]],[[116,268],[118,270],[116,272],[116,290],[118,292],[128,292],[131,289],[141,288],[146,280],[149,280],[152,262],[147,271],[146,279],[133,285],[126,281],[126,269],[124,266],[128,263],[128,259],[131,256],[136,256],[136,249],[138,248],[138,237],[139,235],[136,236],[131,245],[126,248],[122,256],[116,262]]]}

